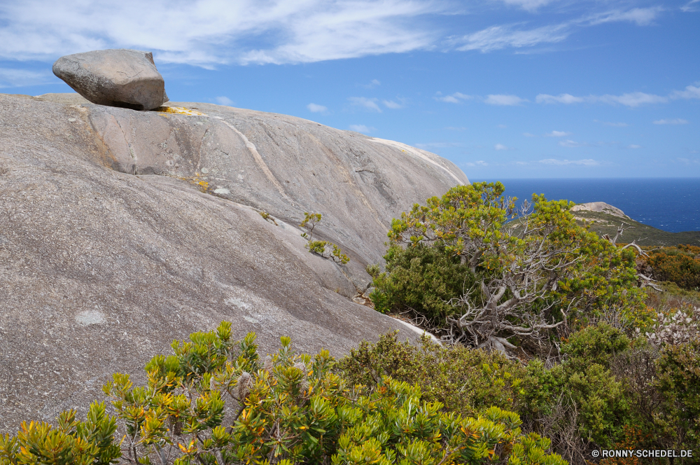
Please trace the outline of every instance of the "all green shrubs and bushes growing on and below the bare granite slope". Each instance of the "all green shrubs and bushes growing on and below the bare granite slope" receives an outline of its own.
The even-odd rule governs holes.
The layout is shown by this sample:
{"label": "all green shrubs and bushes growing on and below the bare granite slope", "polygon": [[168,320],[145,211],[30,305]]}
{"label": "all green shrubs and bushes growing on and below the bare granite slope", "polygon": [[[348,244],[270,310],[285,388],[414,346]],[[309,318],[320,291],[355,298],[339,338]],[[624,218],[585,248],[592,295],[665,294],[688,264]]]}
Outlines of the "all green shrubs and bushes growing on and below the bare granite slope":
{"label": "all green shrubs and bushes growing on and below the bare granite slope", "polygon": [[[442,343],[388,333],[336,361],[283,337],[262,358],[224,321],[155,356],[144,385],[114,374],[111,407],[85,421],[66,411],[0,436],[0,465],[645,463],[593,454],[611,449],[700,464],[700,247],[640,253],[569,202],[515,211],[502,194],[475,183],[416,204],[393,222],[384,271],[367,268],[376,310]],[[309,250],[343,263],[314,249],[320,220],[302,223]]]}

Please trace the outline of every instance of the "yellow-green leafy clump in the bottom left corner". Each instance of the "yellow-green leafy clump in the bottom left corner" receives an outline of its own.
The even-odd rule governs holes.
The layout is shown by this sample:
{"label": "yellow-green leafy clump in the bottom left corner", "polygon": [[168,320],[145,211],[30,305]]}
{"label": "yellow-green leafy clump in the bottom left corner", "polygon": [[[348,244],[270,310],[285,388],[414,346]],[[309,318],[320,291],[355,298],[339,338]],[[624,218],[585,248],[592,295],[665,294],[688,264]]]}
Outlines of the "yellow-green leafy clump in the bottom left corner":
{"label": "yellow-green leafy clump in the bottom left corner", "polygon": [[92,403],[85,422],[66,410],[54,428],[44,422],[23,422],[17,436],[0,436],[0,465],[108,465],[121,457],[113,438],[116,419],[104,403]]}

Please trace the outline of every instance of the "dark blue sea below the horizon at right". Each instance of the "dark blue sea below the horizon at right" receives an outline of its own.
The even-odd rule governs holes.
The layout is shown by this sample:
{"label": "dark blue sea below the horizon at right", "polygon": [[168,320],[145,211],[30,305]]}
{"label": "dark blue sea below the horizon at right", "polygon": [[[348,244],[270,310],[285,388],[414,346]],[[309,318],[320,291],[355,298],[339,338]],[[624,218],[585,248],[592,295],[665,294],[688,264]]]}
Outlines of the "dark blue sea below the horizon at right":
{"label": "dark blue sea below the horizon at right", "polygon": [[519,200],[533,193],[550,200],[605,202],[624,214],[668,232],[700,230],[700,178],[470,179],[501,181],[505,195]]}

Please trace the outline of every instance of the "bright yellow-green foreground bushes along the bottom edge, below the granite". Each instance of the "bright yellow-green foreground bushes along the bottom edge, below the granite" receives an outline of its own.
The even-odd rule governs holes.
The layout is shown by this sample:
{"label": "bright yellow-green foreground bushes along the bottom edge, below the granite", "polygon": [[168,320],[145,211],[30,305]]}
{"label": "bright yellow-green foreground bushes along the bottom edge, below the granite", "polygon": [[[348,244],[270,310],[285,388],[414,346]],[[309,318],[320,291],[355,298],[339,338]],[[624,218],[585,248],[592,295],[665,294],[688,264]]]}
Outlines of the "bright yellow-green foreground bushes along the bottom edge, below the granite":
{"label": "bright yellow-green foreground bushes along the bottom edge, below the granite", "polygon": [[295,354],[283,337],[261,361],[255,335],[235,342],[230,327],[173,342],[174,355],[146,365],[145,386],[113,375],[117,422],[94,404],[85,423],[66,412],[57,429],[25,425],[1,439],[0,464],[566,464],[515,412],[463,416],[387,376],[349,388],[328,352]]}

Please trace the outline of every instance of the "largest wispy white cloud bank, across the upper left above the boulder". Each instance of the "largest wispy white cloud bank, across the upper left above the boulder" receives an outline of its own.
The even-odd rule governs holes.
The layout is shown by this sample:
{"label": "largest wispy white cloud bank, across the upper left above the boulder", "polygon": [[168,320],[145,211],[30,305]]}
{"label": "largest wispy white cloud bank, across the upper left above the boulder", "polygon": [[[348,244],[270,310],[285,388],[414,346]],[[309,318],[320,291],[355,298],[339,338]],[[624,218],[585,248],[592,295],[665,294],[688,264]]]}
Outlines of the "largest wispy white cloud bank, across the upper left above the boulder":
{"label": "largest wispy white cloud bank, across the upper left above the boulder", "polygon": [[0,57],[138,48],[153,50],[157,64],[211,67],[402,53],[432,46],[439,33],[421,17],[447,8],[431,0],[6,0]]}

